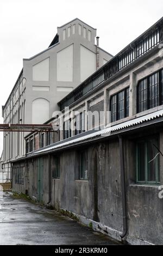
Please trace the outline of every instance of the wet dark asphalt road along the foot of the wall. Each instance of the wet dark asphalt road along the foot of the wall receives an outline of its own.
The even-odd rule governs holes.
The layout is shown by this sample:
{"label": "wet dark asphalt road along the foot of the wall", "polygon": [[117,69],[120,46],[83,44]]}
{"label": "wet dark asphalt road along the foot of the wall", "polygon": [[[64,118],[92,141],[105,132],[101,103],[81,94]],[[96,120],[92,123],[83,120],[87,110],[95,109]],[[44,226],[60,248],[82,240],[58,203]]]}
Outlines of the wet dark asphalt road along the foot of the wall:
{"label": "wet dark asphalt road along the foot of the wall", "polygon": [[44,206],[0,196],[0,245],[115,245],[107,236]]}

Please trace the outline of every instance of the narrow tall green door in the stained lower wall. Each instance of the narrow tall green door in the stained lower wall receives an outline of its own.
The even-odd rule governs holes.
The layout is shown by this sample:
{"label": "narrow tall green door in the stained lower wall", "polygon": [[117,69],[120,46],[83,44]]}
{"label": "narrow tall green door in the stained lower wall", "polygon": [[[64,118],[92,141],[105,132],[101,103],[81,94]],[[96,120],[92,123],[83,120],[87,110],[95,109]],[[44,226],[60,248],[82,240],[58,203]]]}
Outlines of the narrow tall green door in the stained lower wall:
{"label": "narrow tall green door in the stained lower wall", "polygon": [[37,200],[43,201],[43,158],[37,159]]}

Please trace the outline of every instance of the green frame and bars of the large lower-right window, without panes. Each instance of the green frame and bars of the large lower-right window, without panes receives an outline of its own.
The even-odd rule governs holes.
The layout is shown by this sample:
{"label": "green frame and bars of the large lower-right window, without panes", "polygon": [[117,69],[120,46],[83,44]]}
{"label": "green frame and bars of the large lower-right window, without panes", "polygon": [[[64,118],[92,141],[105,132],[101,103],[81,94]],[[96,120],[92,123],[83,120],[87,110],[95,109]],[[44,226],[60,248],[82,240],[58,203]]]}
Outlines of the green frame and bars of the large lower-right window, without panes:
{"label": "green frame and bars of the large lower-right window, without panes", "polygon": [[[136,142],[136,184],[141,184],[141,185],[160,185],[160,158],[156,157],[156,163],[155,165],[157,166],[157,169],[155,170],[155,181],[148,181],[148,174],[149,174],[149,169],[148,169],[148,142],[150,139],[156,139],[157,140],[157,145],[160,147],[160,140],[159,136],[153,136],[153,137],[148,137],[148,138],[142,138],[138,142]],[[138,145],[139,143],[142,142],[145,145],[145,180],[144,181],[139,181],[139,149]],[[159,152],[158,152],[159,153]]]}

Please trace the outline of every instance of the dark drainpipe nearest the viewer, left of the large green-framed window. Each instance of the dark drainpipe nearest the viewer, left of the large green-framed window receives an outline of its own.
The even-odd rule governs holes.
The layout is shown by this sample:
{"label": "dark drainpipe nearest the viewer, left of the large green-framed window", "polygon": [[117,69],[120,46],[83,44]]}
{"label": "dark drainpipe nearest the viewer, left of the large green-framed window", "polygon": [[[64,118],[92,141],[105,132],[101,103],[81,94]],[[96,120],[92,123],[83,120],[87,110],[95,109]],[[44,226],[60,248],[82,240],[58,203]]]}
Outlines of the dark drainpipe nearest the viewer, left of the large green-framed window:
{"label": "dark drainpipe nearest the viewer, left of the large green-framed window", "polygon": [[125,181],[125,170],[124,170],[124,150],[123,150],[123,137],[120,135],[120,160],[121,160],[121,184],[122,184],[122,210],[123,210],[123,233],[121,238],[123,239],[127,235],[127,198],[126,198],[126,181]]}

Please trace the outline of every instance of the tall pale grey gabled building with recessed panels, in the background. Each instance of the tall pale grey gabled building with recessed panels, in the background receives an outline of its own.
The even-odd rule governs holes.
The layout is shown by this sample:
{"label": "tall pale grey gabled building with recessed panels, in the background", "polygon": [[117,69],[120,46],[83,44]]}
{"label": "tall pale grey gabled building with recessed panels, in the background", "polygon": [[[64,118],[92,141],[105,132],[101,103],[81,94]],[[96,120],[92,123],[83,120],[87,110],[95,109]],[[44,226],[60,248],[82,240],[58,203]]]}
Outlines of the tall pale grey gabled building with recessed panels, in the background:
{"label": "tall pale grey gabled building with recessed panels, in the background", "polygon": [[[95,28],[74,19],[57,28],[48,48],[23,59],[23,69],[2,106],[4,124],[43,124],[52,118],[58,101],[112,58],[95,45],[95,38]],[[3,172],[10,173],[11,161],[26,153],[25,135],[4,133]]]}

